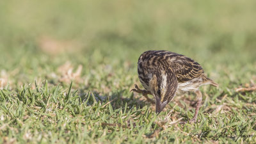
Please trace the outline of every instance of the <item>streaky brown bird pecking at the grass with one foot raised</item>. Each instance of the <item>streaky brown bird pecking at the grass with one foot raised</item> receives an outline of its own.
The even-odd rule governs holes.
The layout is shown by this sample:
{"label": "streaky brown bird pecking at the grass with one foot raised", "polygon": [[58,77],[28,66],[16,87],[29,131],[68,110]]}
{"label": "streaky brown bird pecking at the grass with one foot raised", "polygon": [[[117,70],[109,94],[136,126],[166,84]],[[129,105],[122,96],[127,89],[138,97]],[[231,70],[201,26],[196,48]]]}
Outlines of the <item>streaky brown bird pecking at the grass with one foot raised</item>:
{"label": "streaky brown bird pecking at the grass with one foot raised", "polygon": [[[196,122],[202,102],[199,87],[218,84],[205,76],[204,69],[195,60],[170,51],[145,51],[138,59],[138,77],[145,90],[135,84],[132,92],[142,93],[150,102],[156,104],[157,115],[175,96],[195,92],[195,115],[189,123]],[[153,95],[154,100],[147,95]]]}

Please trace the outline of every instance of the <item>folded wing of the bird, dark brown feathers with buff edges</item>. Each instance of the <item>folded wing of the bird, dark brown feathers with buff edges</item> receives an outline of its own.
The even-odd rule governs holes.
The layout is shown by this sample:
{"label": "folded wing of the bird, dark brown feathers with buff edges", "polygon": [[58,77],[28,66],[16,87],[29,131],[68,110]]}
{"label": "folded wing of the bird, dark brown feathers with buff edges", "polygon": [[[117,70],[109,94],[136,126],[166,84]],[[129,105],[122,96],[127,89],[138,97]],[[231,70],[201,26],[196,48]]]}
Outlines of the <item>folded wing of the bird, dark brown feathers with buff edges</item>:
{"label": "folded wing of the bird, dark brown feathers with buff edges", "polygon": [[183,55],[177,56],[175,61],[170,61],[170,67],[172,67],[180,83],[199,77],[204,73],[199,63]]}

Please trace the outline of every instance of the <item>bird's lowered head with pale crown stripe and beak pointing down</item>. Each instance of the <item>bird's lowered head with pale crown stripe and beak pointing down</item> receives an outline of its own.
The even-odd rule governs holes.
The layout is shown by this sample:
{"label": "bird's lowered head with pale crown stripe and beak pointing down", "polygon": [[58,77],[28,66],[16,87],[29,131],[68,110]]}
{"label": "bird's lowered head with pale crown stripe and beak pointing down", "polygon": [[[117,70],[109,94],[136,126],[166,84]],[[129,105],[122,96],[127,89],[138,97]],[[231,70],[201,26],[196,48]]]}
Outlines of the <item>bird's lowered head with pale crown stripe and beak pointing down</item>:
{"label": "bird's lowered head with pale crown stripe and beak pointing down", "polygon": [[177,84],[172,84],[172,79],[168,74],[161,73],[155,74],[149,81],[149,87],[152,95],[156,100],[156,113],[159,114],[163,111],[166,104],[168,104],[173,97],[177,89]]}

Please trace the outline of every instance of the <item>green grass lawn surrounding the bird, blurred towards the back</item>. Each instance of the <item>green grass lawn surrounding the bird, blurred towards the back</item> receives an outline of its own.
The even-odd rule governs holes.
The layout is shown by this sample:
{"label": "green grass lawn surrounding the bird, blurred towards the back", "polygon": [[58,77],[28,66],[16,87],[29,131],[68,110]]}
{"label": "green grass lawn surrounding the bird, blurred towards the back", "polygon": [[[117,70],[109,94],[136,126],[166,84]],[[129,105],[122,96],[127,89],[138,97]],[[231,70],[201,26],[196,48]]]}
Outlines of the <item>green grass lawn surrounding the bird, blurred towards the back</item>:
{"label": "green grass lawn surrounding the bird, blurred towards the back", "polygon": [[[255,143],[256,94],[235,89],[256,81],[255,5],[1,1],[0,143]],[[172,124],[193,117],[193,93],[156,116],[129,92],[152,49],[193,58],[220,85],[200,88],[200,122]]]}

